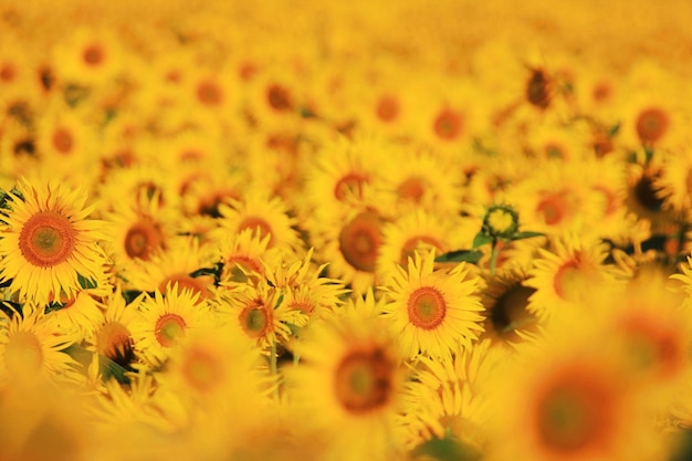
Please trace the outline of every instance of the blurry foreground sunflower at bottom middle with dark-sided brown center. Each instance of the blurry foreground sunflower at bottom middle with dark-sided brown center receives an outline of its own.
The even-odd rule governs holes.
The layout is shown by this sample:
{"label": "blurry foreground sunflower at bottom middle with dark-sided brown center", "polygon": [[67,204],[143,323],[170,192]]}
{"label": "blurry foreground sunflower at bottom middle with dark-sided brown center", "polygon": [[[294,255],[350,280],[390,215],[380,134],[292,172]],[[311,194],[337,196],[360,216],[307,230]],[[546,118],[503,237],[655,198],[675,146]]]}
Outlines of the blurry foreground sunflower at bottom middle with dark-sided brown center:
{"label": "blurry foreground sunflower at bottom middle with dark-sided brown center", "polygon": [[328,437],[329,459],[389,459],[405,376],[384,325],[337,316],[313,324],[296,350],[286,387],[305,427]]}

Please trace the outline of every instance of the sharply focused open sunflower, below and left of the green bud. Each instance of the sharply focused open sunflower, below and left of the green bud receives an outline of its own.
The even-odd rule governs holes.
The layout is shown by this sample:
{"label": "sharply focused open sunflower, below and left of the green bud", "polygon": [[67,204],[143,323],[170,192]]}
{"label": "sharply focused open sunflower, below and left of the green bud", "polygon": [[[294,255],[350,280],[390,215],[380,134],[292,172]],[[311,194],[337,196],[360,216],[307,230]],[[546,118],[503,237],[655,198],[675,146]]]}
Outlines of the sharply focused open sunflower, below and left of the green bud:
{"label": "sharply focused open sunflower, below and left of the green bud", "polygon": [[382,286],[389,300],[384,316],[407,357],[449,358],[483,331],[478,277],[470,276],[465,263],[436,271],[433,262],[434,251],[424,259],[416,252],[408,270],[397,268]]}

